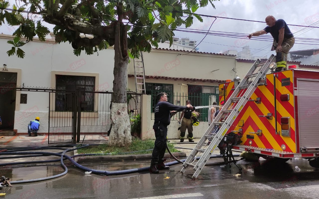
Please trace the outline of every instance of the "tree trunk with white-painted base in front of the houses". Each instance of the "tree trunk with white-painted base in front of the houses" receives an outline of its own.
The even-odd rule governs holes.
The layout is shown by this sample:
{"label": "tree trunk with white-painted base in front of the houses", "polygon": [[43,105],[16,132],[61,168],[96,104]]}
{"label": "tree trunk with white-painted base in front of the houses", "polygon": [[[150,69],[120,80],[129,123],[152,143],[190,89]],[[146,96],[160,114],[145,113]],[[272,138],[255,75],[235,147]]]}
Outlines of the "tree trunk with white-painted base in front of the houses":
{"label": "tree trunk with white-painted base in front of the houses", "polygon": [[127,27],[121,22],[115,25],[114,82],[111,108],[112,129],[108,144],[110,146],[129,146],[132,142],[130,117],[127,110]]}

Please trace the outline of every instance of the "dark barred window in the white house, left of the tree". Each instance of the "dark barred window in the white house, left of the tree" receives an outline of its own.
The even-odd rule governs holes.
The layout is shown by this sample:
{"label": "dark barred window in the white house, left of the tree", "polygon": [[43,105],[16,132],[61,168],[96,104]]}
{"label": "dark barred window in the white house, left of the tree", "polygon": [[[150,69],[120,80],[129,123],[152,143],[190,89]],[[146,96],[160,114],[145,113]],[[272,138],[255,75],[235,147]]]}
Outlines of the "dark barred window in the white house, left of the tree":
{"label": "dark barred window in the white house, left of the tree", "polygon": [[[73,75],[56,75],[56,89],[70,91],[94,91],[95,77],[73,76]],[[81,92],[82,111],[94,110],[94,93]],[[71,111],[72,110],[72,94],[56,92],[56,110]]]}

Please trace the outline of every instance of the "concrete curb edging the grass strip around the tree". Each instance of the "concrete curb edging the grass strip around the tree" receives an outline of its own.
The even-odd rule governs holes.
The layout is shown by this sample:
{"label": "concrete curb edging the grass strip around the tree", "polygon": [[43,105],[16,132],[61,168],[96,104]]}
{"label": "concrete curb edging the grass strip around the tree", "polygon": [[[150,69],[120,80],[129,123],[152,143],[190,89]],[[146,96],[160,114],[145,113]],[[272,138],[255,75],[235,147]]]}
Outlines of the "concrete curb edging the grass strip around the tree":
{"label": "concrete curb edging the grass strip around the tree", "polygon": [[[76,153],[74,151],[74,153]],[[186,153],[175,152],[172,153],[175,157],[186,157]],[[165,153],[164,158],[170,158],[169,153]],[[148,154],[134,154],[134,155],[94,155],[94,156],[82,156],[75,157],[74,160],[78,163],[87,162],[102,162],[102,161],[118,161],[118,160],[151,160],[152,153]]]}

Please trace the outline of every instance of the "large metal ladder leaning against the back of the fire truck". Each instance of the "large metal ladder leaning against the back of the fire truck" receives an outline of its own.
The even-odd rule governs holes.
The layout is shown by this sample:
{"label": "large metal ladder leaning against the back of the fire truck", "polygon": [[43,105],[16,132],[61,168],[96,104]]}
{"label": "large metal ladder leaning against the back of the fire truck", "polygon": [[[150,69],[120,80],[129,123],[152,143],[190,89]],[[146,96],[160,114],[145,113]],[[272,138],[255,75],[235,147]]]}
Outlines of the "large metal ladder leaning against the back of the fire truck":
{"label": "large metal ladder leaning against the back of the fire truck", "polygon": [[[216,122],[213,122],[208,127],[203,137],[185,160],[181,173],[184,173],[187,167],[190,166],[193,167],[195,171],[192,178],[197,178],[207,163],[207,160],[214,153],[219,142],[233,124],[235,118],[258,87],[260,80],[262,80],[270,70],[270,63],[275,62],[275,60],[276,56],[271,55],[267,61],[260,62],[259,59],[255,61],[245,78],[239,83],[233,94],[219,111],[219,114],[214,119]],[[211,143],[205,144],[206,141],[210,141]],[[197,159],[199,155],[201,155],[201,157]]]}

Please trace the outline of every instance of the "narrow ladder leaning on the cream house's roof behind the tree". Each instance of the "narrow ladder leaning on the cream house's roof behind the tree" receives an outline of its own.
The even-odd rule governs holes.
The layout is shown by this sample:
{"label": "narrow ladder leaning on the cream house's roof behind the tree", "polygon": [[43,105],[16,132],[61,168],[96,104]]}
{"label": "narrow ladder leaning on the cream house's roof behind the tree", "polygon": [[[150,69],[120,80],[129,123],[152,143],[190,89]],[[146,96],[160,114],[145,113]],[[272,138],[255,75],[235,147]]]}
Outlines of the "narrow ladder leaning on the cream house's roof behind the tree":
{"label": "narrow ladder leaning on the cream house's roof behind the tree", "polygon": [[145,70],[143,54],[139,59],[134,59],[134,77],[135,77],[135,88],[137,93],[146,94],[145,92]]}

